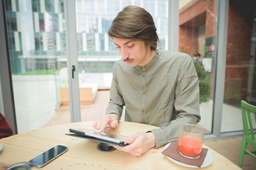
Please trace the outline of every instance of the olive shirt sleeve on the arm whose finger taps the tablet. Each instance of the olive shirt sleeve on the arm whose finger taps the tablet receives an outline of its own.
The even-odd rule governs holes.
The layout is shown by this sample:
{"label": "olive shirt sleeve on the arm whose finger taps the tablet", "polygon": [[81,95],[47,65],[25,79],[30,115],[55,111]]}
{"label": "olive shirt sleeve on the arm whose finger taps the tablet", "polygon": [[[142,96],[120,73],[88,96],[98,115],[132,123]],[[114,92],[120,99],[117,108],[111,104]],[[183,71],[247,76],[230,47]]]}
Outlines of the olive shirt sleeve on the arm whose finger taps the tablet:
{"label": "olive shirt sleeve on the arm whose finger taps the tablet", "polygon": [[123,108],[124,108],[124,99],[120,92],[118,80],[117,80],[117,65],[113,68],[113,78],[110,88],[110,101],[106,109],[106,115],[110,113],[116,113],[118,116],[118,121],[121,119]]}

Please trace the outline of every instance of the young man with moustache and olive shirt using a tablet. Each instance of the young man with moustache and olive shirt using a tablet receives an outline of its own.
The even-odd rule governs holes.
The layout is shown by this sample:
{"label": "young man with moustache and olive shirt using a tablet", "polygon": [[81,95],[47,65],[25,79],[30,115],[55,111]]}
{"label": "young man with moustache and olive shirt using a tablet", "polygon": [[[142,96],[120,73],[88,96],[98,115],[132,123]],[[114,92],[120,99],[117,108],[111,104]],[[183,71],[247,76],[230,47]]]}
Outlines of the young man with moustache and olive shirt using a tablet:
{"label": "young man with moustache and olive shirt using a tablet", "polygon": [[138,132],[118,150],[140,156],[177,140],[177,125],[197,124],[199,86],[191,57],[180,52],[157,50],[158,36],[153,17],[145,9],[128,6],[119,12],[109,30],[121,54],[113,68],[110,102],[106,116],[92,125],[103,130],[115,128],[126,106],[125,121],[161,127]]}

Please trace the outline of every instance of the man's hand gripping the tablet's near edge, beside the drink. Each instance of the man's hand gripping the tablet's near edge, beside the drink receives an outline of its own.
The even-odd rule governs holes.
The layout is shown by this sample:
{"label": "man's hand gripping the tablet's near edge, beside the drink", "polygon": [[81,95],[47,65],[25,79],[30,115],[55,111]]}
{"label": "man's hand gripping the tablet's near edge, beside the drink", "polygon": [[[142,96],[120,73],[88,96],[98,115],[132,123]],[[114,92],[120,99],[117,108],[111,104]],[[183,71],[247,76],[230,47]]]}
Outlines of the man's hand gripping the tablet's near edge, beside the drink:
{"label": "man's hand gripping the tablet's near edge, beside the drink", "polygon": [[143,133],[137,132],[126,139],[127,146],[114,146],[116,149],[130,153],[134,157],[148,151],[148,149],[155,147],[155,136],[152,132]]}

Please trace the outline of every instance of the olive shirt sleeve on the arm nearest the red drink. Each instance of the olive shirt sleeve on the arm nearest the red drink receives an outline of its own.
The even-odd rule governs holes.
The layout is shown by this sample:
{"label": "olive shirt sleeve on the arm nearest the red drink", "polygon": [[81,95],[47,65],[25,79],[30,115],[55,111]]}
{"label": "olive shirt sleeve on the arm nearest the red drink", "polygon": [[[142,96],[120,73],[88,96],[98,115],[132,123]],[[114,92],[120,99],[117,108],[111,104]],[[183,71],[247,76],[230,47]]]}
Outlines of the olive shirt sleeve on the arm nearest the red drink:
{"label": "olive shirt sleeve on the arm nearest the red drink", "polygon": [[174,90],[175,100],[171,122],[160,129],[148,131],[155,136],[156,148],[177,140],[179,124],[197,124],[201,120],[198,75],[189,55],[184,57],[184,61],[180,64],[177,85]]}

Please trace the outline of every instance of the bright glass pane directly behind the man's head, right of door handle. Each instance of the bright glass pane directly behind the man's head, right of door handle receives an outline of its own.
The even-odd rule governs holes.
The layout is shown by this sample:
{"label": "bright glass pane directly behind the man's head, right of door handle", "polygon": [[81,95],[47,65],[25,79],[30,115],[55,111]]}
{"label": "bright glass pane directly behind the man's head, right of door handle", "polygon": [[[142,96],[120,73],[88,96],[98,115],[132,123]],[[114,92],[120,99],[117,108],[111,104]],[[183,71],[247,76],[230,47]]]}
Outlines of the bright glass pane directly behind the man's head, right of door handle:
{"label": "bright glass pane directly behind the man's head, right of door handle", "polygon": [[168,48],[168,0],[75,0],[81,121],[105,114],[112,68],[121,59],[107,32],[117,13],[128,5],[150,12],[160,39],[158,49]]}

